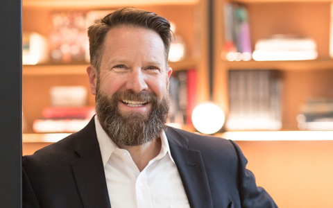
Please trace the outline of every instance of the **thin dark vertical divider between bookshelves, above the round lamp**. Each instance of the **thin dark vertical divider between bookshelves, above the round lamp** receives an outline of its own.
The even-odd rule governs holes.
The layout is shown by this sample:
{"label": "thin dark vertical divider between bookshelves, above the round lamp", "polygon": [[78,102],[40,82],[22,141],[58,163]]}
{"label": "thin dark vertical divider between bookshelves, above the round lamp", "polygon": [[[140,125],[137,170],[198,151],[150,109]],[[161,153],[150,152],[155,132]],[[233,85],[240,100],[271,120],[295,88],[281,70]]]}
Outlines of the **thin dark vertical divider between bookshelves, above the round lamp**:
{"label": "thin dark vertical divider between bookshelves, above the round lamp", "polygon": [[208,69],[210,79],[210,101],[213,101],[214,74],[214,0],[208,0]]}

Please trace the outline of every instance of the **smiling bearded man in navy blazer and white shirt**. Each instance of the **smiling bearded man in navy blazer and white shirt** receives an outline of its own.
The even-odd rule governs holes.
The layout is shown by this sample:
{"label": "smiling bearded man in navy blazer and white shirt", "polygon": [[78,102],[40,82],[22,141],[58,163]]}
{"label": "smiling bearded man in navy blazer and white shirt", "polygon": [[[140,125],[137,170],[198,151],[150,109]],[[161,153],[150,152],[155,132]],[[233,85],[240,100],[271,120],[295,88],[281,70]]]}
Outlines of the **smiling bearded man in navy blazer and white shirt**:
{"label": "smiling bearded man in navy blazer and white shirt", "polygon": [[233,141],[165,128],[167,19],[122,8],[88,36],[96,116],[23,158],[24,207],[276,207]]}

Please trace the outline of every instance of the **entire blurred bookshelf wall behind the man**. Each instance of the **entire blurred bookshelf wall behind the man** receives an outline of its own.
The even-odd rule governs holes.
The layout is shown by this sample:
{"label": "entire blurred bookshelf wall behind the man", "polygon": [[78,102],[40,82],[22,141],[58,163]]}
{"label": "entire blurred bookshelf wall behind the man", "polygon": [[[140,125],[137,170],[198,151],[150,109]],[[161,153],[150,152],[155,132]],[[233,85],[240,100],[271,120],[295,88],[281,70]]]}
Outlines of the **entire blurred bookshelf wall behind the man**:
{"label": "entire blurred bookshelf wall behind the man", "polygon": [[333,206],[332,1],[22,3],[23,155],[89,122],[87,27],[135,6],[172,24],[168,124],[237,141],[278,207]]}

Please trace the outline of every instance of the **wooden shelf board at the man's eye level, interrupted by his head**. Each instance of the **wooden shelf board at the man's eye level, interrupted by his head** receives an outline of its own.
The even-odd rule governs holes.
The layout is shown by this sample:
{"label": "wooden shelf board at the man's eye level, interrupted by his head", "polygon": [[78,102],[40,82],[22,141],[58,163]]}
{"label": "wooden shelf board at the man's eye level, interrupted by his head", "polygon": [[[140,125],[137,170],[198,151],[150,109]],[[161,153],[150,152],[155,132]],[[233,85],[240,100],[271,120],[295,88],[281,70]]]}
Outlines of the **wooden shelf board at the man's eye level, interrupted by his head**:
{"label": "wooden shelf board at the man's eye level, interrupted by his head", "polygon": [[[196,68],[198,62],[194,60],[184,60],[181,62],[169,62],[169,67],[173,71]],[[88,64],[40,64],[24,65],[23,76],[45,76],[45,75],[82,75],[86,74]]]}

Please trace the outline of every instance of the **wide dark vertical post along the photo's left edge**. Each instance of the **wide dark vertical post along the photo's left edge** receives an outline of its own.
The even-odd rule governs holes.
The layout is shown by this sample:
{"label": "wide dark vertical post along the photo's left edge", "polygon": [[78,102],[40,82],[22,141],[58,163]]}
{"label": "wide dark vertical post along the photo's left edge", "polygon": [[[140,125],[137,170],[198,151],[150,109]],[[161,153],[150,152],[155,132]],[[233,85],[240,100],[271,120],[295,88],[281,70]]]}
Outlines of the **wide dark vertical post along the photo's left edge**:
{"label": "wide dark vertical post along the photo's left edge", "polygon": [[0,1],[0,207],[22,207],[22,1]]}

